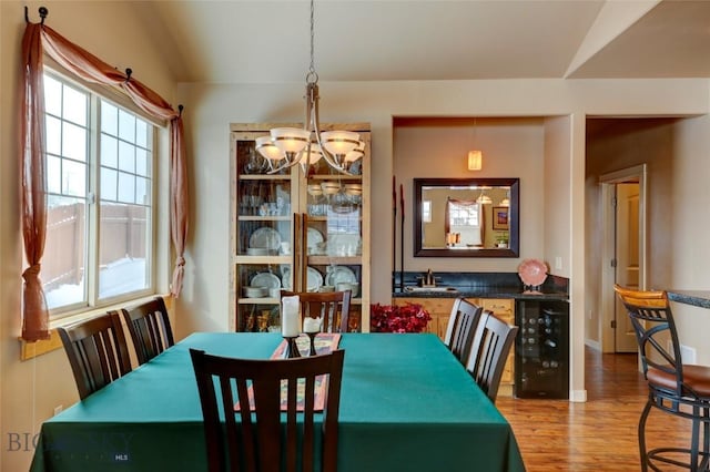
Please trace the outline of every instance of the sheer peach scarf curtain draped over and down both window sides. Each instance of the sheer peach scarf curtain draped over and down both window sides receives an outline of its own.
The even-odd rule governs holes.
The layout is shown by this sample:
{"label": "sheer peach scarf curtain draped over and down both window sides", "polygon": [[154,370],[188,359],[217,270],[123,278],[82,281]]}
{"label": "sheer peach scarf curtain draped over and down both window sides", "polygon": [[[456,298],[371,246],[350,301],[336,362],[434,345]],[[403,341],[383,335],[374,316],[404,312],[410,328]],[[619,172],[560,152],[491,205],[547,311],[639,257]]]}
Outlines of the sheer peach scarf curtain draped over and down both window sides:
{"label": "sheer peach scarf curtain draped over and down both window sides", "polygon": [[187,233],[187,182],[181,111],[176,112],[158,93],[51,28],[29,23],[22,39],[21,182],[22,235],[28,269],[24,278],[22,338],[28,341],[49,337],[49,315],[40,281],[47,230],[44,178],[44,90],[42,53],[47,53],[79,78],[122,90],[145,113],[170,121],[171,127],[171,237],[176,252],[171,293],[180,295],[184,274],[184,245]]}

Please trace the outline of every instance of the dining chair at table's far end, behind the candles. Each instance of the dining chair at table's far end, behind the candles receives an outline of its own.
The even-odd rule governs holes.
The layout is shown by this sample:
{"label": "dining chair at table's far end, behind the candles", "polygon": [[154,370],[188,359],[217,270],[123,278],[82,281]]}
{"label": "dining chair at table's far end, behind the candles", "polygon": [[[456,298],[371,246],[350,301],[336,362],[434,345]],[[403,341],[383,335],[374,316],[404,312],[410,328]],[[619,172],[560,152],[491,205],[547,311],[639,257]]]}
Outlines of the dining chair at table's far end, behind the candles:
{"label": "dining chair at table's far end, behind the candles", "polygon": [[282,297],[297,295],[301,302],[301,322],[308,316],[323,318],[321,331],[348,332],[352,290],[344,291],[282,291]]}

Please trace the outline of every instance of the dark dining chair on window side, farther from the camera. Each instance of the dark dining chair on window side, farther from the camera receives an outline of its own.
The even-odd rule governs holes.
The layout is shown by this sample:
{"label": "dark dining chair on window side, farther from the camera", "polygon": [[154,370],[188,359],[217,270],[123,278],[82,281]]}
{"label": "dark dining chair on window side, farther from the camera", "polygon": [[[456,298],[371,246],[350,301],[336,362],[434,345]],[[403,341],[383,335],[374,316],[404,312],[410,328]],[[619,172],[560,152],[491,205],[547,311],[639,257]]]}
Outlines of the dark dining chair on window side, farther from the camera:
{"label": "dark dining chair on window side, farther from the camera", "polygon": [[129,327],[139,366],[175,343],[163,297],[121,309],[121,312]]}

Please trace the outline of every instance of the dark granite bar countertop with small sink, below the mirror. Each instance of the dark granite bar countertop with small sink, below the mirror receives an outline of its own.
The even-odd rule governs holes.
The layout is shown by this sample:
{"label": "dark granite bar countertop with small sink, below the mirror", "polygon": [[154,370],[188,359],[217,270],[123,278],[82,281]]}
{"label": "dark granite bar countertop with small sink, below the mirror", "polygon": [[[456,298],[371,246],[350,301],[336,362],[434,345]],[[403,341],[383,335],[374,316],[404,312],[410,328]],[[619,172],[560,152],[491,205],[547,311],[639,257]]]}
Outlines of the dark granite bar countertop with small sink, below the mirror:
{"label": "dark granite bar countertop with small sink, below the mirror", "polygon": [[392,294],[393,298],[514,298],[516,300],[567,300],[566,291],[542,288],[540,291],[524,290],[520,286],[511,287],[452,287],[454,290],[444,290],[443,287],[427,290],[417,288],[408,291],[407,286],[402,291],[398,288]]}

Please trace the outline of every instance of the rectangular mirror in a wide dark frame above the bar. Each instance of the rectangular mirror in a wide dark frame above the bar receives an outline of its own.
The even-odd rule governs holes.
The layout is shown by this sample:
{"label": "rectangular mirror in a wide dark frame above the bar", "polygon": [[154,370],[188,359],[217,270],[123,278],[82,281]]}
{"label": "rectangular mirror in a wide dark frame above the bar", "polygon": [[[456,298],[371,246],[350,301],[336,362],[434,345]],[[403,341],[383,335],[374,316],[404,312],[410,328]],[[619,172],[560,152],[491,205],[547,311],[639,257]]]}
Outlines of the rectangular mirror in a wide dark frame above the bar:
{"label": "rectangular mirror in a wide dark frame above the bar", "polygon": [[518,257],[519,178],[415,178],[415,257]]}

